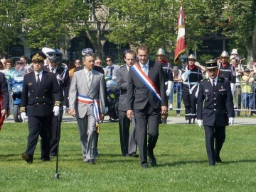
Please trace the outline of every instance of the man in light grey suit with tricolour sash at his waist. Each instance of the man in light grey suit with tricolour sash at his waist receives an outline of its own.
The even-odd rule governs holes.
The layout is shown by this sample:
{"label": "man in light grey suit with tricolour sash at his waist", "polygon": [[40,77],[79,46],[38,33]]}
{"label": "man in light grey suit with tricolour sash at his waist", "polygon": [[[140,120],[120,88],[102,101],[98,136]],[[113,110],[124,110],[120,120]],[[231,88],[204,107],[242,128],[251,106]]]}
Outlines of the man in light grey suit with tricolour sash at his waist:
{"label": "man in light grey suit with tricolour sash at his waist", "polygon": [[78,120],[83,160],[95,164],[97,126],[105,112],[105,77],[93,69],[93,53],[85,54],[82,62],[85,68],[73,74],[70,84],[70,114]]}

